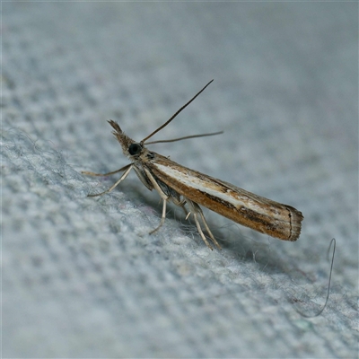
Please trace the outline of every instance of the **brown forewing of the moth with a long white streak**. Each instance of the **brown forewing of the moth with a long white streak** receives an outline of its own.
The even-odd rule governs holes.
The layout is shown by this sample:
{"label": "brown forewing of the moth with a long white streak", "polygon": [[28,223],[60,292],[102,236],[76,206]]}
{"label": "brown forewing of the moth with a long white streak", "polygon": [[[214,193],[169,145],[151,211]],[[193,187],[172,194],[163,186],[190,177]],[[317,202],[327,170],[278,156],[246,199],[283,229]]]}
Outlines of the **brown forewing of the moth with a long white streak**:
{"label": "brown forewing of the moth with a long white streak", "polygon": [[236,223],[284,241],[296,241],[301,233],[302,213],[190,170],[168,158],[153,153],[146,166],[153,175],[171,186],[181,196],[223,215]]}

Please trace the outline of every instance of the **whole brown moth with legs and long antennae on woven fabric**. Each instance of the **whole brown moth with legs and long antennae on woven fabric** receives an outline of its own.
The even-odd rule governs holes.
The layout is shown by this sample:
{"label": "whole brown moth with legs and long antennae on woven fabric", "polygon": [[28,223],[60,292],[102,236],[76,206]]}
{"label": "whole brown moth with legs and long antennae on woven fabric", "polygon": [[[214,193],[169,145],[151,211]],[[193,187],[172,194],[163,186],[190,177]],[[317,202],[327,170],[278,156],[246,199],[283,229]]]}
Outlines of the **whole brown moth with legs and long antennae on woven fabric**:
{"label": "whole brown moth with legs and long antennae on woven fabric", "polygon": [[[213,136],[222,133],[217,132],[213,134],[186,136],[172,140],[145,143],[163,127],[166,127],[182,109],[185,109],[189,103],[194,101],[213,81],[214,80],[207,83],[196,96],[182,106],[167,122],[140,142],[136,142],[125,135],[118,126],[118,123],[109,120],[109,125],[114,129],[113,134],[118,139],[119,144],[122,146],[123,153],[128,157],[131,163],[117,171],[104,174],[83,171],[84,174],[91,176],[108,176],[121,171],[124,172],[111,188],[99,194],[89,195],[89,197],[109,193],[113,188],[117,187],[122,180],[125,180],[128,173],[134,169],[138,178],[144,183],[144,186],[150,190],[154,188],[163,200],[161,223],[150,232],[151,234],[161,228],[166,218],[167,201],[171,201],[184,210],[187,215],[186,219],[188,219],[189,215],[193,215],[200,236],[211,250],[212,246],[206,240],[199,220],[205,225],[206,232],[208,232],[215,246],[218,249],[221,249],[221,247],[210,231],[199,205],[206,206],[219,215],[223,215],[255,231],[284,241],[296,241],[301,233],[303,216],[301,212],[292,206],[283,205],[270,199],[259,197],[223,180],[217,180],[198,171],[190,170],[179,163],[171,161],[168,157],[149,151],[144,146],[144,144],[174,142],[187,138]],[[189,210],[186,206],[188,206]]]}

